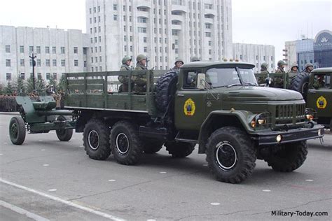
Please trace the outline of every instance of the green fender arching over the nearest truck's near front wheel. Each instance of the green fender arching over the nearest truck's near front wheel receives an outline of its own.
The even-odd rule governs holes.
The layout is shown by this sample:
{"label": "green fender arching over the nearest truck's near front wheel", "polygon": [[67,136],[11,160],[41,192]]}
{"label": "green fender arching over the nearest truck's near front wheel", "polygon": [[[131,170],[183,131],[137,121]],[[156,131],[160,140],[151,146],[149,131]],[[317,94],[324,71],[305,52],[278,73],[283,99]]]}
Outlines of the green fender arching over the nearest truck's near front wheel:
{"label": "green fender arching over the nearest truck's near front wheel", "polygon": [[205,145],[209,135],[213,131],[225,126],[241,127],[250,134],[253,129],[249,127],[249,119],[254,117],[253,113],[241,110],[215,110],[209,113],[205,121],[200,127],[200,135],[198,136],[198,153],[205,153]]}

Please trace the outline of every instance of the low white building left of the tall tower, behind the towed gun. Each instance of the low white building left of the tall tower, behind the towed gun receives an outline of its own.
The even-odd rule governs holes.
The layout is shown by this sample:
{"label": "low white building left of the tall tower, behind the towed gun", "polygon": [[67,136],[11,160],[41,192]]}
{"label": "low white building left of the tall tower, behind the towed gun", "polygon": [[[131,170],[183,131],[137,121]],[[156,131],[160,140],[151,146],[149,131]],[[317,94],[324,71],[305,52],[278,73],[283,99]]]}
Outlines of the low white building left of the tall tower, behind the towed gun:
{"label": "low white building left of the tall tower, behind the towed gun", "polygon": [[89,44],[81,30],[0,26],[0,84],[18,75],[29,78],[32,52],[36,78],[59,80],[65,72],[87,71]]}

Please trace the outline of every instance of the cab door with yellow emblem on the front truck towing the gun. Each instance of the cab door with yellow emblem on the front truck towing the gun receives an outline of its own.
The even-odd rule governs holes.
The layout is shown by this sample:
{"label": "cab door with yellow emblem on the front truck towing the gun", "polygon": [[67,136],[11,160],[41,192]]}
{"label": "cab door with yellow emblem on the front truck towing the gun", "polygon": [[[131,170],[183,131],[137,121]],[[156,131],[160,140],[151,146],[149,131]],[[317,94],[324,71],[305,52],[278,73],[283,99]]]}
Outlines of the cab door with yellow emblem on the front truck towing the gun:
{"label": "cab door with yellow emblem on the front truck towing the gun", "polygon": [[207,92],[197,88],[197,75],[202,70],[184,70],[175,94],[174,118],[177,129],[198,130],[205,120]]}

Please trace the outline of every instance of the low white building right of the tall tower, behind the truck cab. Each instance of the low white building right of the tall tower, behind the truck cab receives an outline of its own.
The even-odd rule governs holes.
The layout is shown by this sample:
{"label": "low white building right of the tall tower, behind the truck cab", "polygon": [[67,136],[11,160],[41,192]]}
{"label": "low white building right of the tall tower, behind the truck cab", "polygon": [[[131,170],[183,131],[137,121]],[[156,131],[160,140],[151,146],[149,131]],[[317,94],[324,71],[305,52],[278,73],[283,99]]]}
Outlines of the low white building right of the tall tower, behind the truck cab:
{"label": "low white building right of the tall tower, behind the truck cab", "polygon": [[233,59],[254,64],[255,73],[261,71],[261,64],[268,64],[268,71],[275,72],[275,46],[233,43]]}

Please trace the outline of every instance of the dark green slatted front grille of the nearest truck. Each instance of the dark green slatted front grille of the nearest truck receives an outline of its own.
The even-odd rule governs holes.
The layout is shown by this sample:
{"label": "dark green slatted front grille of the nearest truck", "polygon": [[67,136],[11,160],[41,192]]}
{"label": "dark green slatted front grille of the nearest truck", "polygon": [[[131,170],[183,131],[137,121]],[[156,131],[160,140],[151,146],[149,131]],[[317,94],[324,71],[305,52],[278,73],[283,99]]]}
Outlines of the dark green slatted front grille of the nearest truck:
{"label": "dark green slatted front grille of the nearest truck", "polygon": [[305,104],[278,105],[275,109],[275,124],[296,124],[305,121]]}

